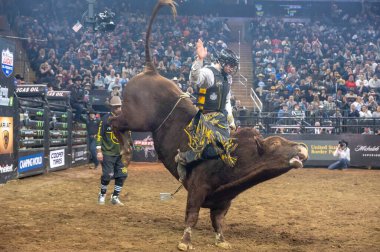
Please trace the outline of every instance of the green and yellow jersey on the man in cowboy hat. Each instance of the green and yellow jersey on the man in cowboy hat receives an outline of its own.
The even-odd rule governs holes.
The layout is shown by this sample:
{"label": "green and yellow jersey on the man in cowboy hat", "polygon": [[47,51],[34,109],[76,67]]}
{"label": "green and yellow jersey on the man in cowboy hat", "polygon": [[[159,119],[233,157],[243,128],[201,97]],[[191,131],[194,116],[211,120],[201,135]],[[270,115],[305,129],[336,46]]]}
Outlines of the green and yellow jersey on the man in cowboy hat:
{"label": "green and yellow jersey on the man in cowboy hat", "polygon": [[97,148],[99,148],[98,146],[101,147],[103,155],[119,156],[120,144],[109,123],[109,118],[111,116],[114,116],[114,114],[108,113],[103,116],[100,121],[98,136],[96,138],[96,146]]}

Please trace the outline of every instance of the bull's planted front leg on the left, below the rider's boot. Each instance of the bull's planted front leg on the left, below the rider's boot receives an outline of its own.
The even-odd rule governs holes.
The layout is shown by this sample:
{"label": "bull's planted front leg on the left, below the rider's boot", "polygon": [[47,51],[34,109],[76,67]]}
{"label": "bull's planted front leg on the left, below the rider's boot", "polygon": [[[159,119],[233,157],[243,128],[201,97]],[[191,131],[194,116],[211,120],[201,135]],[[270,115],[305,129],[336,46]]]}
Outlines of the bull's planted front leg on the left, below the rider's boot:
{"label": "bull's planted front leg on the left, below the rider's boot", "polygon": [[199,210],[201,205],[205,199],[206,192],[198,190],[189,189],[187,194],[187,205],[186,205],[186,217],[185,217],[185,225],[186,228],[183,231],[183,236],[178,244],[178,249],[181,251],[187,251],[190,249],[194,249],[191,244],[191,232],[195,227],[199,217]]}

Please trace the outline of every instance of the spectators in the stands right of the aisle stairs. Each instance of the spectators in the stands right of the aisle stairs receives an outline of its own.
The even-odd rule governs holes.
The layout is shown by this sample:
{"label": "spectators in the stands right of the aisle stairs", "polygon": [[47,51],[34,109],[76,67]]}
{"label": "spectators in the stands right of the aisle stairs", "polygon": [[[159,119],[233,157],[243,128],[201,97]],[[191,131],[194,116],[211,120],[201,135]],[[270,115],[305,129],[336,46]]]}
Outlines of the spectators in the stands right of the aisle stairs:
{"label": "spectators in the stands right of the aisle stairs", "polygon": [[305,115],[380,118],[379,27],[367,6],[349,15],[336,4],[310,22],[253,19],[254,88],[266,111],[278,123]]}

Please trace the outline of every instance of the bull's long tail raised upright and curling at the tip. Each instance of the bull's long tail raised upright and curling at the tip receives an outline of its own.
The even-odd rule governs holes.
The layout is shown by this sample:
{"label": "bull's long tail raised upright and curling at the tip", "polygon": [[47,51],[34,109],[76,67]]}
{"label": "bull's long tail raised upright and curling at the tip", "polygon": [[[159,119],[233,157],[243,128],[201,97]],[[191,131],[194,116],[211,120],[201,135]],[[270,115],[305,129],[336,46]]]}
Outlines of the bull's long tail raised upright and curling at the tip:
{"label": "bull's long tail raised upright and curling at the tip", "polygon": [[156,6],[153,9],[152,16],[149,20],[149,26],[148,30],[146,32],[146,38],[145,38],[145,72],[156,72],[156,68],[154,67],[154,63],[152,61],[152,58],[150,57],[150,50],[149,50],[149,42],[150,42],[150,34],[152,32],[152,25],[153,22],[157,16],[158,11],[162,8],[162,6],[168,5],[173,13],[173,16],[175,17],[177,15],[177,3],[174,0],[159,0]]}

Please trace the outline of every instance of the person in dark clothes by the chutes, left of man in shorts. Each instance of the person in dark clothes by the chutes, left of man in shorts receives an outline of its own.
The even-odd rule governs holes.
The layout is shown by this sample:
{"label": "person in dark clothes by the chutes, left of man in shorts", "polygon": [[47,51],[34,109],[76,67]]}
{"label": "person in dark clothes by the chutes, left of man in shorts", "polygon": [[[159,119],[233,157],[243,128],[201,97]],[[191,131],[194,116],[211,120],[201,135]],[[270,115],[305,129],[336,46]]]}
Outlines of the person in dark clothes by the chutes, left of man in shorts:
{"label": "person in dark clothes by the chutes, left of man in shorts", "polygon": [[[101,167],[98,158],[96,157],[96,139],[99,129],[100,120],[96,118],[96,112],[93,109],[88,111],[88,119],[87,119],[87,135],[90,144],[90,153],[92,157],[92,161],[94,162],[94,168],[98,169]],[[90,169],[93,167],[90,166]]]}

